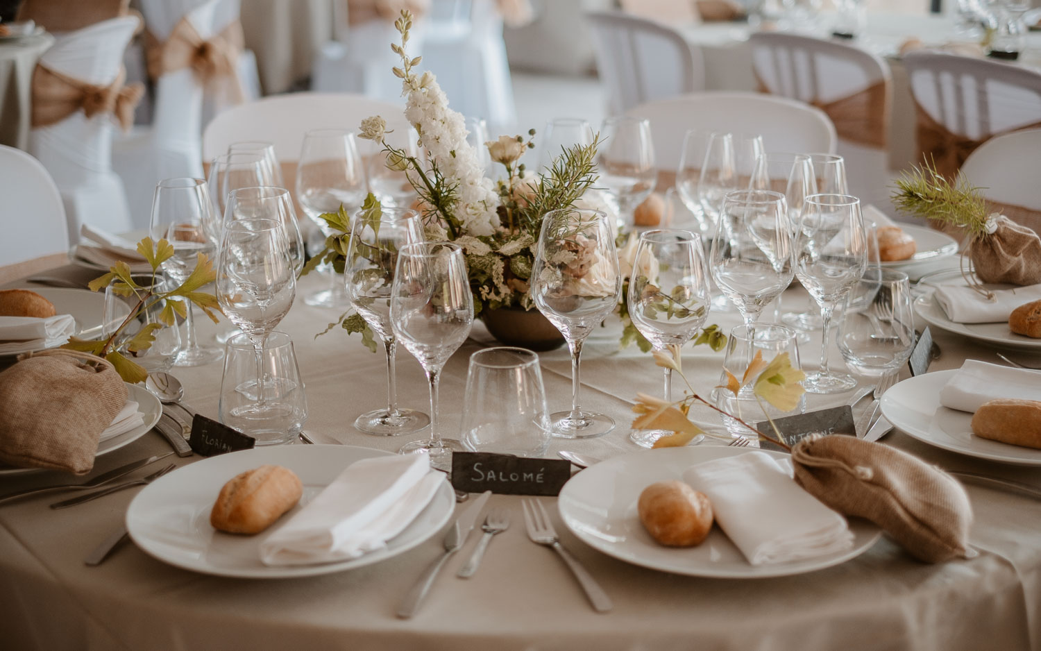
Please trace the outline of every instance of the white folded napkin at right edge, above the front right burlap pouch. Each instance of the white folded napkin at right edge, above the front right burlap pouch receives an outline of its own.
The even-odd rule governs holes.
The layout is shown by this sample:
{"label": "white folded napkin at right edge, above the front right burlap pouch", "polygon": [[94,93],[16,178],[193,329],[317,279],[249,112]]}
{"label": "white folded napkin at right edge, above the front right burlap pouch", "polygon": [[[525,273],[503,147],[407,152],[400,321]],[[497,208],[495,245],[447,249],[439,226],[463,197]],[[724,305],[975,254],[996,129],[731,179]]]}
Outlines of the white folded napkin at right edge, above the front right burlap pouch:
{"label": "white folded napkin at right edge, above the front right burlap pouch", "polygon": [[940,391],[940,404],[974,414],[983,403],[997,398],[1041,400],[1039,377],[1037,371],[966,359]]}

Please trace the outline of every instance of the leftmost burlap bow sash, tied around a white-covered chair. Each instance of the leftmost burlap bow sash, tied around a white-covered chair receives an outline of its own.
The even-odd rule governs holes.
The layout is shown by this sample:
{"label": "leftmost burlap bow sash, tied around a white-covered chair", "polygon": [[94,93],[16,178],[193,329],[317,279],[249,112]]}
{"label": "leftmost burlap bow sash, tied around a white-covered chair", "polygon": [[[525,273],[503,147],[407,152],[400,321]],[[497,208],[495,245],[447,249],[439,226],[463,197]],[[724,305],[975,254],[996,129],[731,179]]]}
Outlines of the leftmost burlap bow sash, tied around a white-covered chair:
{"label": "leftmost burlap bow sash, tied around a white-covered chair", "polygon": [[32,126],[56,124],[82,110],[87,118],[110,112],[124,131],[129,129],[145,85],[124,85],[125,79],[126,70],[121,69],[110,84],[94,85],[37,64],[32,73]]}

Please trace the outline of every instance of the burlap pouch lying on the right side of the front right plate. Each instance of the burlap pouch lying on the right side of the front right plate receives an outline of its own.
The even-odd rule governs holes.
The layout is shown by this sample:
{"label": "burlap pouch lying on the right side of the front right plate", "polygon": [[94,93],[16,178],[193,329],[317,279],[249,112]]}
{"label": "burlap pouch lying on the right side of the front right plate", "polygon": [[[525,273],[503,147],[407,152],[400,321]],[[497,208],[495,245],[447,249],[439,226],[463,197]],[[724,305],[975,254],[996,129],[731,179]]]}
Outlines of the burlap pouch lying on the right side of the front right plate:
{"label": "burlap pouch lying on the right side of the front right plate", "polygon": [[870,520],[926,562],[971,558],[972,507],[950,475],[906,452],[854,436],[804,439],[795,481],[844,516]]}

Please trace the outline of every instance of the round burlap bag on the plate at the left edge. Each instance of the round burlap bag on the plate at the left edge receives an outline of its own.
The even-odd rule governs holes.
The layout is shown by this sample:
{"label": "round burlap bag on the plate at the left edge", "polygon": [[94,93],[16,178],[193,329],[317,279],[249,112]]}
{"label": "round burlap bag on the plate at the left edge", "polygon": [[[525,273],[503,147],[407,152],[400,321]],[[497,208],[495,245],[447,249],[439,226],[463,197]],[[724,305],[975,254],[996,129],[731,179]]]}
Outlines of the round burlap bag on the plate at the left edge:
{"label": "round burlap bag on the plate at the left edge", "polygon": [[101,357],[26,353],[0,373],[0,462],[90,472],[101,432],[126,401],[123,378]]}

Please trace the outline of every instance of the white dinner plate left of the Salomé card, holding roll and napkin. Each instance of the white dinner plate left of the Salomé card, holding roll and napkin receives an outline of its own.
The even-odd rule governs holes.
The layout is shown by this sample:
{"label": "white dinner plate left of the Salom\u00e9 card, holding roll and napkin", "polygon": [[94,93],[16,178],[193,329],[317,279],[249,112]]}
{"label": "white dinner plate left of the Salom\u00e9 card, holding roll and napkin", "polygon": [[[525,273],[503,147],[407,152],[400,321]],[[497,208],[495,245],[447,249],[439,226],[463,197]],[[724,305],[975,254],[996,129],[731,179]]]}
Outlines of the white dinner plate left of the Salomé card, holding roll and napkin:
{"label": "white dinner plate left of the Salom\u00e9 card, holding roll and napkin", "polygon": [[[269,567],[260,562],[260,543],[302,505],[314,498],[351,464],[391,454],[353,446],[275,446],[230,452],[184,466],[153,481],[130,503],[127,530],[146,553],[178,568],[240,578],[270,579],[314,576],[360,568],[397,556],[420,545],[448,522],[455,508],[455,494],[442,481],[430,504],[384,549],[358,558],[311,566]],[[300,504],[266,531],[234,535],[213,529],[209,512],[221,487],[235,475],[274,464],[300,477],[304,496]]]}

